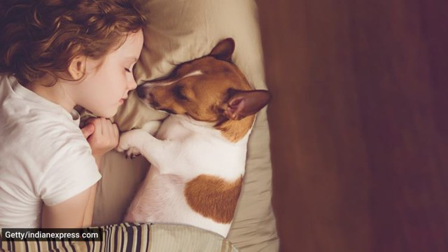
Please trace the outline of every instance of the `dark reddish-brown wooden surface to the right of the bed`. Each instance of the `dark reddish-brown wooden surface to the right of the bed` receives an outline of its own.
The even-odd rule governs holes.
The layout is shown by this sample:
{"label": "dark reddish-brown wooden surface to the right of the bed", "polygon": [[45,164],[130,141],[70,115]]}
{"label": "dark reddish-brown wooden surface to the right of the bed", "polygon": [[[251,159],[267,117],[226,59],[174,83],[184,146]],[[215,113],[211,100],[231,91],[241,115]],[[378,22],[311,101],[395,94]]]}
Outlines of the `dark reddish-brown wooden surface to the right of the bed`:
{"label": "dark reddish-brown wooden surface to the right of the bed", "polygon": [[257,3],[281,251],[448,251],[448,1]]}

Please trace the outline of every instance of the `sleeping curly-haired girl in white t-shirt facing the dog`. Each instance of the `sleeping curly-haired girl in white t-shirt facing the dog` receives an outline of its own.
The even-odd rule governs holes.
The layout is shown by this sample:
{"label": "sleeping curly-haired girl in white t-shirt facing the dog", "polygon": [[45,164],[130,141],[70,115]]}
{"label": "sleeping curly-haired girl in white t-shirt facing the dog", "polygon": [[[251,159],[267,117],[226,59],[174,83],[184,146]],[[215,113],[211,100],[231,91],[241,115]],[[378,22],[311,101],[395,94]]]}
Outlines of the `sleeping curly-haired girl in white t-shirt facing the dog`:
{"label": "sleeping curly-haired girl in white t-shirt facing the dog", "polygon": [[[131,0],[1,5],[0,228],[90,226],[145,19]],[[98,118],[80,129],[76,105]]]}

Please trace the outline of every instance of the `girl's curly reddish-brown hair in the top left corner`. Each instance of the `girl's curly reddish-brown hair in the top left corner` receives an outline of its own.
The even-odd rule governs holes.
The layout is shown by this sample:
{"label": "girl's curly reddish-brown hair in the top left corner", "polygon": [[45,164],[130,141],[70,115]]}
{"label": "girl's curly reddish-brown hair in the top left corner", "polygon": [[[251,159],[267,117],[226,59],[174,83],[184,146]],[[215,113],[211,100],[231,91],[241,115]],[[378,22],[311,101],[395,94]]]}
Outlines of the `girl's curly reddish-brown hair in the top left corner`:
{"label": "girl's curly reddish-brown hair in the top left corner", "polygon": [[22,85],[52,77],[71,59],[104,56],[146,25],[132,0],[8,0],[0,3],[0,73]]}

